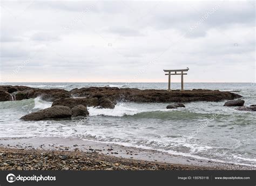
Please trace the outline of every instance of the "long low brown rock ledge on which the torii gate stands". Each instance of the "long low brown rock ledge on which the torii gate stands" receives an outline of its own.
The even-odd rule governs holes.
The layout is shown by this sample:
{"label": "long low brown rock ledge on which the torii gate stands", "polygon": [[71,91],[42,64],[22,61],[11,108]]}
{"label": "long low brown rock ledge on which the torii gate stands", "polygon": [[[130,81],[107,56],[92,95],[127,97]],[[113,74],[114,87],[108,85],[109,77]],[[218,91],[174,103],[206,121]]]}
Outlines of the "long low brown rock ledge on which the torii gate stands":
{"label": "long low brown rock ledge on which the torii gate stands", "polygon": [[137,88],[89,87],[72,89],[76,97],[104,97],[111,101],[134,102],[188,102],[188,101],[220,101],[240,98],[232,92],[193,89],[192,91],[166,91],[158,89],[140,90]]}

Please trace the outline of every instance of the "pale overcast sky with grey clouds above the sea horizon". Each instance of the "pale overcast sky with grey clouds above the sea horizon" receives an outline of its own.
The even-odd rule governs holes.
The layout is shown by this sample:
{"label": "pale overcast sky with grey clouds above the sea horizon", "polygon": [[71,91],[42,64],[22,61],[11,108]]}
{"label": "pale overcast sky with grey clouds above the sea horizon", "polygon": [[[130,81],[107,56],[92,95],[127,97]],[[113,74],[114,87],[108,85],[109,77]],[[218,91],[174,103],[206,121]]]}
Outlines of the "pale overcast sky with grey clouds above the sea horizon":
{"label": "pale overcast sky with grey clouds above the sea horizon", "polygon": [[3,82],[166,82],[186,67],[186,82],[254,82],[255,2],[1,1]]}

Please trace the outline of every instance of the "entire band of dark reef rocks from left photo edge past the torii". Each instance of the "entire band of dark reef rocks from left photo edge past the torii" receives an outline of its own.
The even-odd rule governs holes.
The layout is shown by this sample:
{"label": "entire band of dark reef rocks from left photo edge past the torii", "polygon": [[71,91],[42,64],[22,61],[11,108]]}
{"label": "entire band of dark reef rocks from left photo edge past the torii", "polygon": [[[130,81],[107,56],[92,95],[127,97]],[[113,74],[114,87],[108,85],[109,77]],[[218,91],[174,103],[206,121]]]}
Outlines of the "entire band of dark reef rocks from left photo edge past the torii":
{"label": "entire band of dark reef rocks from left photo edge past the torii", "polygon": [[[85,97],[96,98],[98,101],[107,98],[113,102],[188,102],[188,101],[221,101],[240,98],[241,95],[233,92],[211,91],[207,89],[193,89],[192,91],[166,91],[160,89],[117,88],[117,87],[89,87],[75,88],[71,91],[64,89],[40,89],[25,86],[0,86],[0,91],[25,91],[26,98],[41,97],[45,101],[54,101],[60,98]],[[95,100],[96,100],[95,99]],[[78,104],[79,105],[79,104]],[[83,104],[82,104],[83,105]],[[93,104],[95,105],[95,104]]]}

